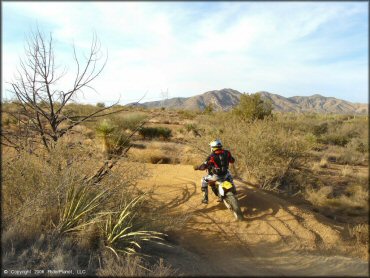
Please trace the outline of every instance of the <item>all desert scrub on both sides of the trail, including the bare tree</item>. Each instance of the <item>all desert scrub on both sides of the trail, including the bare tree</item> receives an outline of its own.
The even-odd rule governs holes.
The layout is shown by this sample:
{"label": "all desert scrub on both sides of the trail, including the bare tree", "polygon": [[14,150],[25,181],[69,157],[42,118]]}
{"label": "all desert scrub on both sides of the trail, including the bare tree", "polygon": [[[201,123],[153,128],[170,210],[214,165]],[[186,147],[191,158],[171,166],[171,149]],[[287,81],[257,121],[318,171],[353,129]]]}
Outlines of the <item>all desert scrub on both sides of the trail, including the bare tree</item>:
{"label": "all desert scrub on both sides of the trail, including the bare tree", "polygon": [[78,70],[65,90],[52,43],[40,32],[31,37],[14,99],[2,104],[6,268],[178,274],[146,256],[154,244],[170,246],[166,234],[187,215],[170,213],[137,184],[148,164],[199,165],[215,138],[236,158],[239,181],[309,204],[367,248],[367,116],[274,113],[258,94],[242,95],[230,111],[83,105],[72,100],[104,68],[99,43],[94,37],[85,63],[74,50]]}

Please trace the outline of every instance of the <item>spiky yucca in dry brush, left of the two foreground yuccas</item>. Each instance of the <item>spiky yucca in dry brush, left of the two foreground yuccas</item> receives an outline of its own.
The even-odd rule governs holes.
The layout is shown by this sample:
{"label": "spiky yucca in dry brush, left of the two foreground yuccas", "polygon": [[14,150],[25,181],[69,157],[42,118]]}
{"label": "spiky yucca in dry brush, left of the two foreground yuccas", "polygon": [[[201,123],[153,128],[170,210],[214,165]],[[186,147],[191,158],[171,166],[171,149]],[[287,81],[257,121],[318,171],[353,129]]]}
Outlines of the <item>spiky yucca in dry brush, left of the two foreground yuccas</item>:
{"label": "spiky yucca in dry brush, left of the two foreground yuccas", "polygon": [[61,211],[59,224],[56,227],[57,233],[75,232],[96,223],[99,217],[89,214],[99,206],[100,200],[106,193],[107,190],[93,192],[89,185],[71,185],[67,192],[64,208]]}

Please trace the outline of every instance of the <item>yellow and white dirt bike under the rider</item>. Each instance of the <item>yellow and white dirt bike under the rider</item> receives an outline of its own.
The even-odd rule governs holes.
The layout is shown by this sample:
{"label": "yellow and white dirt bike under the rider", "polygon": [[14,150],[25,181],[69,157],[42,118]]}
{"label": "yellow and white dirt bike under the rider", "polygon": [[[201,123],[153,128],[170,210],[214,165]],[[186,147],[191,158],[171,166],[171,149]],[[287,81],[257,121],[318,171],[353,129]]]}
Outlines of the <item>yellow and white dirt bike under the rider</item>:
{"label": "yellow and white dirt bike under the rider", "polygon": [[[199,167],[195,167],[194,170],[206,170],[204,164]],[[243,213],[240,209],[238,199],[236,198],[235,188],[232,183],[228,180],[228,174],[224,176],[216,176],[214,180],[209,180],[208,185],[212,188],[212,191],[218,195],[218,197],[225,204],[226,208],[231,210],[234,217],[237,220],[243,220]]]}

